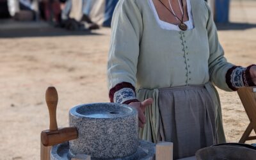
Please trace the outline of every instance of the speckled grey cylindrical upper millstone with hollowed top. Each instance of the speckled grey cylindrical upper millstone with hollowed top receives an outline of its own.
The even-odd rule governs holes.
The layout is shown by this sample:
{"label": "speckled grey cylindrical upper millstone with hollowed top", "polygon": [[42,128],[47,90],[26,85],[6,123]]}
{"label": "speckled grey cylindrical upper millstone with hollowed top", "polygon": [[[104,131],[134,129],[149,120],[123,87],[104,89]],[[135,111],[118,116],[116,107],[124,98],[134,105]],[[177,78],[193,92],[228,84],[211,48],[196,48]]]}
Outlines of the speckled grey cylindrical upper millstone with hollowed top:
{"label": "speckled grey cylindrical upper millstone with hollowed top", "polygon": [[71,155],[116,159],[138,150],[138,112],[125,104],[82,104],[70,109],[69,120],[78,131]]}

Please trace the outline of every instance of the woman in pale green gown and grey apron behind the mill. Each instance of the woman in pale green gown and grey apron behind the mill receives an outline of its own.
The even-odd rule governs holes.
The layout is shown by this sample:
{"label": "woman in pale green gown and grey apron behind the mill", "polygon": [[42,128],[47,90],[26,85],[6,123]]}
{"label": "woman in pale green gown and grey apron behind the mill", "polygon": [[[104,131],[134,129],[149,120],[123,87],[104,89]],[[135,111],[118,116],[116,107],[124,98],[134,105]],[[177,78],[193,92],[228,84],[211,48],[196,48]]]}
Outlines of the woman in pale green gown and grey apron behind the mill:
{"label": "woman in pale green gown and grey apron behind the mill", "polygon": [[212,84],[226,91],[256,84],[255,65],[237,67],[223,55],[205,1],[121,0],[112,23],[109,97],[138,109],[140,138],[172,141],[174,159],[193,156],[225,142]]}

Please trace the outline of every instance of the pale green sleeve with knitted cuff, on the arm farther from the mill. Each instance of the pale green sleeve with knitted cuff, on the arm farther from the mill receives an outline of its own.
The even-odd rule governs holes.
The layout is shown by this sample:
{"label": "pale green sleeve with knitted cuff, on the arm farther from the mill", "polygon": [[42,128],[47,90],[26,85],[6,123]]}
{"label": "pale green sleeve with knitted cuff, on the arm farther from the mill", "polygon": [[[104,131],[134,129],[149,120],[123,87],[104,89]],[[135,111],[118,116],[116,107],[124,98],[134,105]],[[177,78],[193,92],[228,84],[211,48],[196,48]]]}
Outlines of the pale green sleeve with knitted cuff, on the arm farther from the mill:
{"label": "pale green sleeve with knitted cuff, on the arm farther from the mill", "polygon": [[244,68],[227,62],[224,57],[223,48],[218,40],[217,29],[211,15],[211,10],[207,3],[205,3],[205,6],[209,13],[206,29],[210,51],[208,60],[210,81],[225,91],[236,91],[243,86],[253,86],[254,84],[250,77],[250,67],[252,65]]}

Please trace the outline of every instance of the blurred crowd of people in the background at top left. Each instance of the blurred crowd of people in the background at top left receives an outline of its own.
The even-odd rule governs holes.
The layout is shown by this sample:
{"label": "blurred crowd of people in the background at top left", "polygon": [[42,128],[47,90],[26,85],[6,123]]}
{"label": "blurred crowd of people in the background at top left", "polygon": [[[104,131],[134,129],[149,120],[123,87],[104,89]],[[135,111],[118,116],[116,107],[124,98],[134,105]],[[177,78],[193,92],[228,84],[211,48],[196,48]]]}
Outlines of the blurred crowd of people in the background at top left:
{"label": "blurred crowd of people in the background at top left", "polygon": [[[0,0],[0,18],[12,17],[20,21],[46,20],[54,26],[70,30],[99,29],[100,26],[110,26],[106,17],[111,19],[117,1]],[[105,15],[106,11],[110,13],[109,16]]]}

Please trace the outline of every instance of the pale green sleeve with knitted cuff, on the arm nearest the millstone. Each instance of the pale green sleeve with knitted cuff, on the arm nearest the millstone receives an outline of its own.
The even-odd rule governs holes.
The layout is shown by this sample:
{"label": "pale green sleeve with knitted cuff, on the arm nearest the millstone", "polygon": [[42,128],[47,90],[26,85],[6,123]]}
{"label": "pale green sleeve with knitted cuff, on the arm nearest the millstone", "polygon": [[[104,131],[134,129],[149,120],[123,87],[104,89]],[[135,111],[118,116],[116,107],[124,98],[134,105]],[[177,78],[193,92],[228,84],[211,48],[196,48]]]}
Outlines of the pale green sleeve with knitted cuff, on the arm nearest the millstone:
{"label": "pale green sleeve with knitted cuff, on the arm nearest the millstone", "polygon": [[111,102],[138,101],[135,88],[142,17],[135,0],[120,0],[111,24],[108,88]]}

